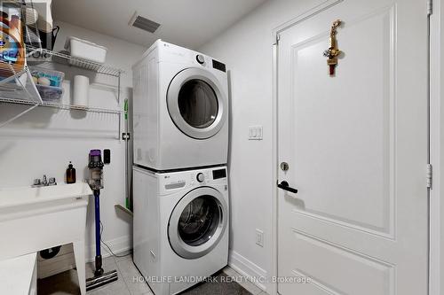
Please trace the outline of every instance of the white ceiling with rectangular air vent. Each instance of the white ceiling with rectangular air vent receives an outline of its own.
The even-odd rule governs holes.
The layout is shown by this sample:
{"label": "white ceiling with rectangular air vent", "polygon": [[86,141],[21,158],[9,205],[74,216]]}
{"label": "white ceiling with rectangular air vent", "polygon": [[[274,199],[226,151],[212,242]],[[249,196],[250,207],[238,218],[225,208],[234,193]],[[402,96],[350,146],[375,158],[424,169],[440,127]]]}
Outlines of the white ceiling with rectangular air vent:
{"label": "white ceiling with rectangular air vent", "polygon": [[[149,46],[156,39],[198,49],[267,0],[52,0],[52,17]],[[134,12],[161,24],[155,34],[129,26]]]}

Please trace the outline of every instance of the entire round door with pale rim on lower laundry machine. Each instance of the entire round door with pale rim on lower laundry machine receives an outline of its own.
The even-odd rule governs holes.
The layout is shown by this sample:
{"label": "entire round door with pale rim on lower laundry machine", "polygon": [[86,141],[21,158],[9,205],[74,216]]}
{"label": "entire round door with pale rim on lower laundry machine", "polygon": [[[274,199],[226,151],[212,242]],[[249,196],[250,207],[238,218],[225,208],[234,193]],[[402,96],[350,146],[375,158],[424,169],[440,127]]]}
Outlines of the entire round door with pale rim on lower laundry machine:
{"label": "entire round door with pale rim on lower laundry machine", "polygon": [[227,220],[226,200],[218,190],[210,187],[191,190],[171,212],[170,246],[183,258],[202,257],[224,237]]}

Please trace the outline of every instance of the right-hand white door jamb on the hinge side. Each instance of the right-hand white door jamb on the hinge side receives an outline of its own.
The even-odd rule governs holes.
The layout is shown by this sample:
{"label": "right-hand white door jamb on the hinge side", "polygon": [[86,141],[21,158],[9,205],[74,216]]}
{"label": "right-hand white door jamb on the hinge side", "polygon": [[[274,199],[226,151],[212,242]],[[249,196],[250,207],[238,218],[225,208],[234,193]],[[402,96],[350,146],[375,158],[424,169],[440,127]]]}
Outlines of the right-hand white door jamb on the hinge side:
{"label": "right-hand white door jamb on the hinge side", "polygon": [[[432,190],[430,190],[430,257],[429,294],[444,292],[444,202],[440,201],[444,191],[444,0],[431,0],[430,16],[430,163],[432,164]],[[442,282],[442,283],[441,283]]]}

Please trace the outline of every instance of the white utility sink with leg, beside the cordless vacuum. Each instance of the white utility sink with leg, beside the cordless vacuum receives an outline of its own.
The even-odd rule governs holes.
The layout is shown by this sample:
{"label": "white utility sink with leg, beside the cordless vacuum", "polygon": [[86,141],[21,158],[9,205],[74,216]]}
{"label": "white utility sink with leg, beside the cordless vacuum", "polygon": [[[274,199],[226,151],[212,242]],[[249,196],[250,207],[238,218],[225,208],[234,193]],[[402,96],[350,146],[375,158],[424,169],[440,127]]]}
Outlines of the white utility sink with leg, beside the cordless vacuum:
{"label": "white utility sink with leg, beside the cordless vacuum", "polygon": [[84,237],[90,195],[84,182],[0,189],[0,261],[73,243],[85,294]]}

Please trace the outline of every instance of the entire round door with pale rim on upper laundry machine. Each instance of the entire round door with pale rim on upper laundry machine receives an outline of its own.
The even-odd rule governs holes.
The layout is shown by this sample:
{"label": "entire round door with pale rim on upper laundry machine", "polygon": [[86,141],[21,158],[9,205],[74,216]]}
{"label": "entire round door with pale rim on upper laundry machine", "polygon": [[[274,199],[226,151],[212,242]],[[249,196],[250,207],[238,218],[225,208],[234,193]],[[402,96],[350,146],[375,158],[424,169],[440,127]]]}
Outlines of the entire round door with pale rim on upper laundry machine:
{"label": "entire round door with pale rim on upper laundry machine", "polygon": [[170,118],[186,136],[206,139],[218,133],[227,120],[227,98],[218,78],[204,68],[179,72],[167,92]]}

